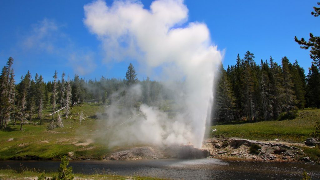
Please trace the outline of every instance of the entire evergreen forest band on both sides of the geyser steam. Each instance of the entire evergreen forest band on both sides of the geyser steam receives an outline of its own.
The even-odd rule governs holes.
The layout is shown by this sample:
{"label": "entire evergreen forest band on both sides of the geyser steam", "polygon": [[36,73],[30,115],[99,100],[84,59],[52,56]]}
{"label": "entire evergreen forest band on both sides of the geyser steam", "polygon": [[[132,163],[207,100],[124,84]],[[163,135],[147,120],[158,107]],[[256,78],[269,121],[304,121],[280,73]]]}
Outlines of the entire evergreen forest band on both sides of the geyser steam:
{"label": "entire evergreen forest band on both sides of the geyser steam", "polygon": [[[132,84],[141,85],[142,95],[135,103],[137,105],[161,106],[161,101],[174,99],[175,93],[162,83],[149,78],[138,80],[132,64],[123,80],[102,76],[98,81],[84,81],[78,75],[71,79],[64,73],[58,80],[55,72],[53,81],[44,82],[42,75],[35,74],[33,79],[28,71],[16,83],[13,61],[12,57],[8,59],[0,76],[1,129],[7,126],[8,121],[23,122],[35,114],[41,121],[42,111],[48,106],[55,111],[92,100],[107,105],[113,93],[118,92],[118,96],[122,96]],[[256,64],[254,55],[247,51],[243,58],[238,54],[235,65],[224,69],[221,64],[218,75],[212,109],[212,121],[218,123],[294,118],[298,109],[320,107],[320,75],[318,67],[313,64],[306,76],[297,60],[292,64],[283,57],[281,65],[278,65],[270,57],[269,61],[261,60]],[[177,83],[182,87],[183,82]]]}

